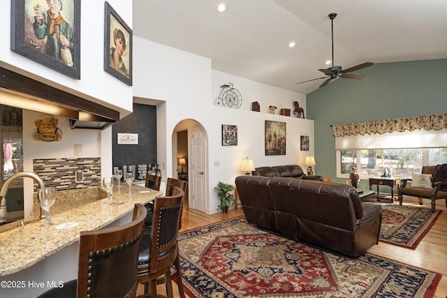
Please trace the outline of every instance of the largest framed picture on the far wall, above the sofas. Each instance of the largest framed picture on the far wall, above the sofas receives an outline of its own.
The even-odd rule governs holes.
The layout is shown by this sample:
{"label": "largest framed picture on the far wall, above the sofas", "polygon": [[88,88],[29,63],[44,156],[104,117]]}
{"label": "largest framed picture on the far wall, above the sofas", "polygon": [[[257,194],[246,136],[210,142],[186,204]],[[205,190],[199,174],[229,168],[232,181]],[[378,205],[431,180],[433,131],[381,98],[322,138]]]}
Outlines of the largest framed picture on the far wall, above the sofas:
{"label": "largest framed picture on the far wall, above the sofas", "polygon": [[265,120],[265,155],[286,155],[286,123]]}

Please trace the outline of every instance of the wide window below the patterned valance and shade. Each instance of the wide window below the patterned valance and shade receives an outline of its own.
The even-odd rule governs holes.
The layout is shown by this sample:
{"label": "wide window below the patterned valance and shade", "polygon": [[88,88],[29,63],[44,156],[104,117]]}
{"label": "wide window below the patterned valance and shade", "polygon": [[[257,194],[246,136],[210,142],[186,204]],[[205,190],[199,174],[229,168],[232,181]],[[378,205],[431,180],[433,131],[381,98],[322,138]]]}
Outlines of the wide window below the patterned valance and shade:
{"label": "wide window below the patterned valance and shade", "polygon": [[352,167],[363,177],[411,177],[423,165],[447,163],[447,148],[357,149],[337,152],[337,177],[349,177]]}

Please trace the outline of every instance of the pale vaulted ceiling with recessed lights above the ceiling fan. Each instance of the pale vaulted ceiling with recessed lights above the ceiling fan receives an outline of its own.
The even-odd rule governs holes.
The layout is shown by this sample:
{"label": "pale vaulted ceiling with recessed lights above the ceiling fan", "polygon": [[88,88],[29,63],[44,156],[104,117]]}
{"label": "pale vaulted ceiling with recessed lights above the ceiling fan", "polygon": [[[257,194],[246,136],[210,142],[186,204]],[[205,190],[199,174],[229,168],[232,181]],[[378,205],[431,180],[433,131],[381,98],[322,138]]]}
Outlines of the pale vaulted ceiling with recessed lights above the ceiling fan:
{"label": "pale vaulted ceiling with recessed lights above the ceiling fan", "polygon": [[[218,13],[222,1],[228,9]],[[214,70],[308,94],[324,80],[296,83],[332,66],[330,13],[334,64],[343,69],[447,58],[446,0],[133,0],[132,27],[134,36],[210,58]]]}

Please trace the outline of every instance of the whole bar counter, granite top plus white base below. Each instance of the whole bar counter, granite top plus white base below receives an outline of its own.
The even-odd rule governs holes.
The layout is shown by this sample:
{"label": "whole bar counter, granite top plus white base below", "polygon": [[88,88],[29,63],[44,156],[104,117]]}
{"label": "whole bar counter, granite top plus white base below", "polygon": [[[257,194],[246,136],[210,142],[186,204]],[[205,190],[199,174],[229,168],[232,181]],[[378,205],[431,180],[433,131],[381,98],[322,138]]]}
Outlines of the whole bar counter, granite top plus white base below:
{"label": "whole bar counter, granite top plus white base below", "polygon": [[[128,192],[126,184],[115,186],[112,204],[103,191],[99,192],[105,198],[101,200],[57,201],[50,209],[52,225],[43,226],[45,219],[28,220],[23,226],[19,223],[17,228],[0,232],[0,281],[23,285],[2,286],[0,297],[36,297],[53,284],[76,278],[81,231],[129,223],[135,203],[146,204],[162,194],[135,184],[132,193]],[[33,213],[36,216],[38,212]]]}

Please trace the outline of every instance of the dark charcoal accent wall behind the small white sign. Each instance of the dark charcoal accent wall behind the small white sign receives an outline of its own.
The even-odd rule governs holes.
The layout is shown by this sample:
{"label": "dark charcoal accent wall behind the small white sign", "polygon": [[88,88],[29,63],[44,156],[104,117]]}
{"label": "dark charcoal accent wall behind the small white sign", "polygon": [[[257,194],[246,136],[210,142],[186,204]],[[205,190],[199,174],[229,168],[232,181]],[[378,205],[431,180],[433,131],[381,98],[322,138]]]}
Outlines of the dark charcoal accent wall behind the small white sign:
{"label": "dark charcoal accent wall behind the small white sign", "polygon": [[[138,133],[138,144],[117,144],[117,133]],[[133,112],[112,126],[113,166],[156,163],[156,107],[133,104]]]}

